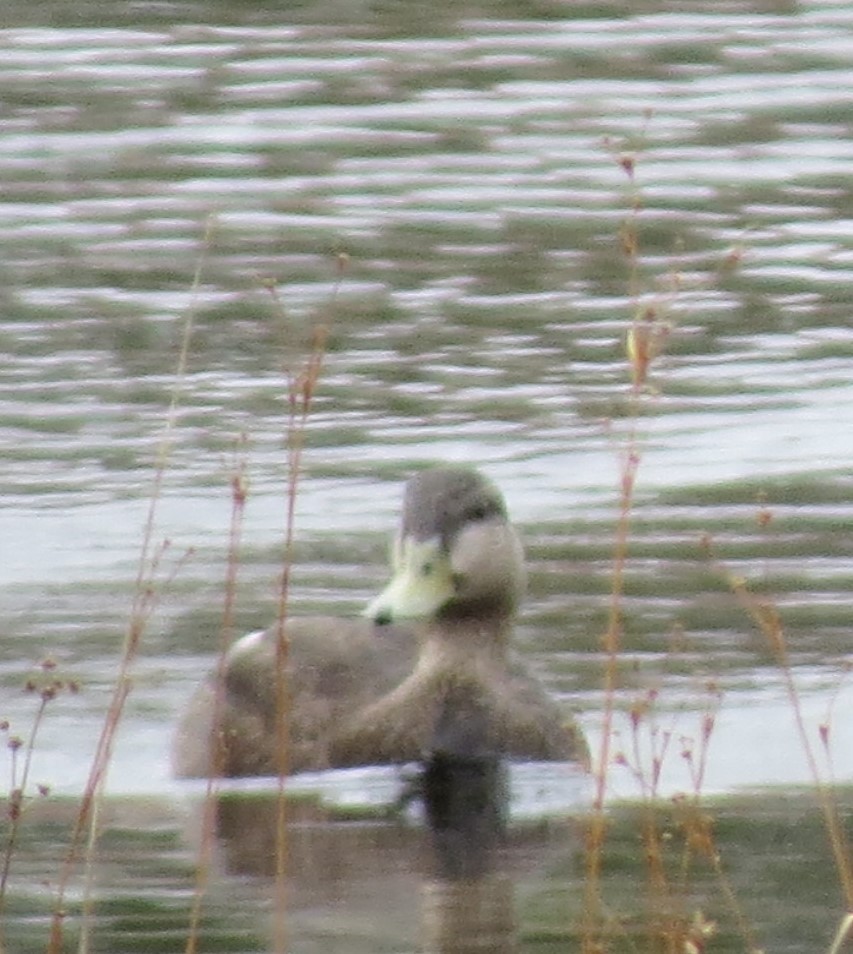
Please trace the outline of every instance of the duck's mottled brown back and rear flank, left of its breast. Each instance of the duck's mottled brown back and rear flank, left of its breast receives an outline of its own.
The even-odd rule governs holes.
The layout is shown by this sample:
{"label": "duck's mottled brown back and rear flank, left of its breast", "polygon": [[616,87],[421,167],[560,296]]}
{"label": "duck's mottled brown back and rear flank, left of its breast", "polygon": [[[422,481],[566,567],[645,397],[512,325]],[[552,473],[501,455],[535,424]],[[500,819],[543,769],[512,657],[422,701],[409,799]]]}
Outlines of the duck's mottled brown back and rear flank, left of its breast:
{"label": "duck's mottled brown back and rear flank, left of its breast", "polygon": [[[228,651],[183,713],[173,748],[179,777],[277,775],[334,767],[333,740],[354,711],[411,672],[411,631],[366,619],[294,618],[284,630],[284,710],[279,717],[278,627],[250,633]],[[217,698],[218,694],[218,698]],[[286,733],[278,728],[282,718]]]}

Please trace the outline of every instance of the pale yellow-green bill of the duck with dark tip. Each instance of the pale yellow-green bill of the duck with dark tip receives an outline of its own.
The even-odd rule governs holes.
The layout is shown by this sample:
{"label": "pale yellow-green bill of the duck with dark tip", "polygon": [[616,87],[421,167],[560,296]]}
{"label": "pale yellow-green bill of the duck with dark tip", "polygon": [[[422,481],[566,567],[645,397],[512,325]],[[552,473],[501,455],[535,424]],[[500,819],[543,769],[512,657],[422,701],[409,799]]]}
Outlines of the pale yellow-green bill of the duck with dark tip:
{"label": "pale yellow-green bill of the duck with dark tip", "polygon": [[407,537],[395,548],[394,575],[364,610],[379,623],[427,619],[454,595],[453,572],[438,540]]}

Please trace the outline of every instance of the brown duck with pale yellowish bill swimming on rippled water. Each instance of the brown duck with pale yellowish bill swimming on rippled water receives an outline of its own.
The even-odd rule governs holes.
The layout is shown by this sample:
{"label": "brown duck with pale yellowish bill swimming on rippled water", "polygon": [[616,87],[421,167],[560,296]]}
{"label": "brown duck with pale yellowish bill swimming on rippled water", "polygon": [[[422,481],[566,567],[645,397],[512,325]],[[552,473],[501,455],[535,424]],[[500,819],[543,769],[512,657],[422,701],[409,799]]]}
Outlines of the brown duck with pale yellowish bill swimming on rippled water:
{"label": "brown duck with pale yellowish bill swimming on rippled water", "polygon": [[180,720],[175,774],[277,775],[436,756],[588,767],[582,730],[513,651],[524,551],[487,477],[458,464],[415,473],[391,571],[359,618],[293,617],[235,642]]}

